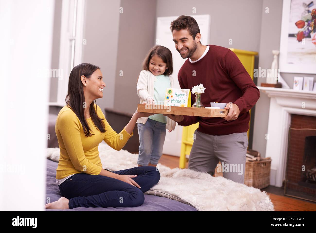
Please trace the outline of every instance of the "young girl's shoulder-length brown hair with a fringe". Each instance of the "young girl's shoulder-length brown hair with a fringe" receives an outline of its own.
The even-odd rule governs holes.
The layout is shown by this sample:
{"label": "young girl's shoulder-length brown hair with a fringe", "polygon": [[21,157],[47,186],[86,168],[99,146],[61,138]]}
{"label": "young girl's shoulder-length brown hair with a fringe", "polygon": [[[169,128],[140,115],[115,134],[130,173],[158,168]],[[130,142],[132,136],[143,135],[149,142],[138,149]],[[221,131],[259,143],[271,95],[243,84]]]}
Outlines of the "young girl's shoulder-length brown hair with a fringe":
{"label": "young girl's shoulder-length brown hair with a fringe", "polygon": [[143,70],[149,71],[149,61],[154,56],[157,55],[160,57],[163,62],[167,64],[168,69],[163,73],[164,75],[171,75],[173,72],[172,68],[172,53],[170,49],[161,45],[155,45],[149,50],[149,53],[146,55],[146,58],[143,61]]}

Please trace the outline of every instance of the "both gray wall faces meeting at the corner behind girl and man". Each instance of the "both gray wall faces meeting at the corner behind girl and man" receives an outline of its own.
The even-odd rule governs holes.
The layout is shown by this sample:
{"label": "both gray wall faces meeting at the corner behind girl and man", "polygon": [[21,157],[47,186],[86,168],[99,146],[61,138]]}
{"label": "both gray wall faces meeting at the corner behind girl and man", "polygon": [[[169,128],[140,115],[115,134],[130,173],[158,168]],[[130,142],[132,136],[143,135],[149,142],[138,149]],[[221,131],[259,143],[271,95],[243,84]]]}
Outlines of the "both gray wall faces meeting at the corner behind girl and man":
{"label": "both gray wall faces meeting at the corner behind girl and man", "polygon": [[[166,7],[168,5],[177,7]],[[226,9],[227,5],[229,5],[229,9]],[[139,97],[136,94],[136,80],[145,55],[155,45],[156,17],[192,15],[192,7],[196,7],[196,14],[211,15],[211,44],[258,51],[261,5],[262,1],[252,0],[238,2],[231,0],[229,4],[215,0],[202,0],[194,3],[187,0],[174,0],[172,3],[167,0],[122,0],[121,6],[124,13],[120,14],[119,21],[115,110],[134,113],[137,108]],[[228,14],[229,17],[223,17],[223,13],[218,9],[225,9],[225,14]],[[249,12],[249,14],[244,14],[244,11]],[[249,21],[249,18],[252,20]],[[231,19],[234,19],[234,24],[242,26],[240,28],[227,26],[232,24]],[[229,30],[227,30],[228,27]],[[249,28],[253,32],[252,36],[248,36]],[[229,39],[233,39],[233,45],[228,44]],[[119,76],[120,71],[123,71],[123,77]]]}

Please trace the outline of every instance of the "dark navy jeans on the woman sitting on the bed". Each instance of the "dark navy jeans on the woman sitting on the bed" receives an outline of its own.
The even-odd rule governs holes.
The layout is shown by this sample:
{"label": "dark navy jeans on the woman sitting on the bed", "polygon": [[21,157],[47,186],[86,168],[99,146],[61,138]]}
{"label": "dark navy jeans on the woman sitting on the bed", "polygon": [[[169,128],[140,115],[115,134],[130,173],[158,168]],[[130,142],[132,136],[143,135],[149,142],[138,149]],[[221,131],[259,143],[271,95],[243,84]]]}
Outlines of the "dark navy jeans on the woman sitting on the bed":
{"label": "dark navy jeans on the woman sitting on the bed", "polygon": [[113,172],[119,175],[137,175],[132,178],[141,188],[119,179],[77,173],[59,187],[60,193],[69,199],[69,209],[76,207],[136,207],[144,202],[144,192],[158,183],[159,170],[156,167],[133,167]]}

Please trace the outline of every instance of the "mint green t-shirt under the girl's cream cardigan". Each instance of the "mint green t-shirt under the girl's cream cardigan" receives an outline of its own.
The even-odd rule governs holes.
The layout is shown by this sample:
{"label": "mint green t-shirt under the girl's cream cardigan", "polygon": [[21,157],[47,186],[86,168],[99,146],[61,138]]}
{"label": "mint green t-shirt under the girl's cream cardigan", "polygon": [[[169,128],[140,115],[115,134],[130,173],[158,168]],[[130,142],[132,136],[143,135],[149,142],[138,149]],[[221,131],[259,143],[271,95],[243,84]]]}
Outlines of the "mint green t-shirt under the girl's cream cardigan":
{"label": "mint green t-shirt under the girl's cream cardigan", "polygon": [[[163,74],[156,76],[156,81],[154,82],[153,96],[155,104],[163,105],[162,101],[165,100],[167,88],[171,88],[169,76],[165,76]],[[167,124],[167,116],[164,116],[163,114],[154,114],[149,116],[148,118]]]}

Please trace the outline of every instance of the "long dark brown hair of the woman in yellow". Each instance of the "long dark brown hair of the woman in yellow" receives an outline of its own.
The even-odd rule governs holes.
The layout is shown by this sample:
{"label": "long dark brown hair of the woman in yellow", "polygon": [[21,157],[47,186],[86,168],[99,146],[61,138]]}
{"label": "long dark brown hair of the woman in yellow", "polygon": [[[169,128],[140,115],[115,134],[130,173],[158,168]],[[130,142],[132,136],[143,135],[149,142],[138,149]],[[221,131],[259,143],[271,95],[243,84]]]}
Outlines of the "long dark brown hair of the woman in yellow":
{"label": "long dark brown hair of the woman in yellow", "polygon": [[[92,136],[90,133],[90,128],[88,126],[86,117],[84,116],[84,103],[86,102],[83,94],[83,84],[81,82],[81,76],[84,75],[86,78],[90,78],[94,71],[100,69],[98,66],[89,64],[89,63],[81,63],[75,66],[69,75],[68,82],[68,94],[66,96],[66,104],[69,108],[71,108],[76,116],[79,118],[84,134],[86,137]],[[94,100],[95,101],[95,100]],[[95,101],[90,104],[89,113],[91,116],[91,120],[93,121],[95,127],[100,130],[100,132],[104,133],[105,124],[99,116],[97,115],[97,103]]]}

